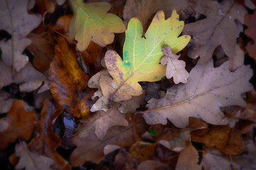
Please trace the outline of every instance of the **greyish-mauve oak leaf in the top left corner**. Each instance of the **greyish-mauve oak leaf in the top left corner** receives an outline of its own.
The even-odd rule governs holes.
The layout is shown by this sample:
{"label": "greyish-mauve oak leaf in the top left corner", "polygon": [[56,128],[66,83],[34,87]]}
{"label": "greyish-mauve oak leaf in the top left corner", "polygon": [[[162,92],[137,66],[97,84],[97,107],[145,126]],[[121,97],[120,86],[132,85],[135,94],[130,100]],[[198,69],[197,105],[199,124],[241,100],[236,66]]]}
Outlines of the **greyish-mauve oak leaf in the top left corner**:
{"label": "greyish-mauve oak leaf in the top left corner", "polygon": [[40,16],[28,14],[27,5],[28,0],[9,0],[1,1],[0,7],[1,18],[4,18],[0,21],[0,30],[6,30],[11,34],[11,40],[0,41],[2,60],[16,72],[28,62],[28,57],[21,53],[31,41],[24,37],[42,21]]}

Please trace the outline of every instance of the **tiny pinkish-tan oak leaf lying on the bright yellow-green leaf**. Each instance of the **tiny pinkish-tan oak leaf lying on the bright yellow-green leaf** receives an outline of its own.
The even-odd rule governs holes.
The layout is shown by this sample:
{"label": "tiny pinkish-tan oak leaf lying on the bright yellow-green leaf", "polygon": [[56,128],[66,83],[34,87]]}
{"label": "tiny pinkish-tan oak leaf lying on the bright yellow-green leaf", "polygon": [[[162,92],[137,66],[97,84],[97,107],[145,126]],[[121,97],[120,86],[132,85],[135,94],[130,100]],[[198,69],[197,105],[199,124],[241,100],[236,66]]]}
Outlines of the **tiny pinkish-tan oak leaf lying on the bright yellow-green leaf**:
{"label": "tiny pinkish-tan oak leaf lying on the bright yellow-green leaf", "polygon": [[162,53],[164,53],[164,57],[161,59],[161,64],[167,64],[166,69],[166,77],[167,79],[171,79],[173,77],[173,81],[175,84],[179,84],[179,82],[187,83],[187,79],[189,78],[189,72],[185,69],[186,63],[182,60],[178,60],[180,55],[174,55],[172,53],[172,49],[169,46],[165,46],[162,48]]}

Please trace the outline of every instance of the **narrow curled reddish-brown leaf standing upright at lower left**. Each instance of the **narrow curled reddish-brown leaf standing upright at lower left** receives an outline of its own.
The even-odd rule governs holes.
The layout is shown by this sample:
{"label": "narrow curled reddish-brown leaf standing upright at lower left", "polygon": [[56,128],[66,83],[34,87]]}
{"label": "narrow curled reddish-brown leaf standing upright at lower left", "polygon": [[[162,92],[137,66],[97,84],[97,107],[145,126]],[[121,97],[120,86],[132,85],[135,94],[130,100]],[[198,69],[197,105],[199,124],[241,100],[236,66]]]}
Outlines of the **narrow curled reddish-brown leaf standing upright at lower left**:
{"label": "narrow curled reddish-brown leaf standing upright at lower left", "polygon": [[53,169],[70,169],[69,163],[56,151],[57,147],[62,144],[62,140],[52,131],[54,120],[61,113],[62,109],[56,108],[49,99],[44,101],[38,136],[31,140],[28,148],[30,151],[36,151],[40,155],[53,159]]}

